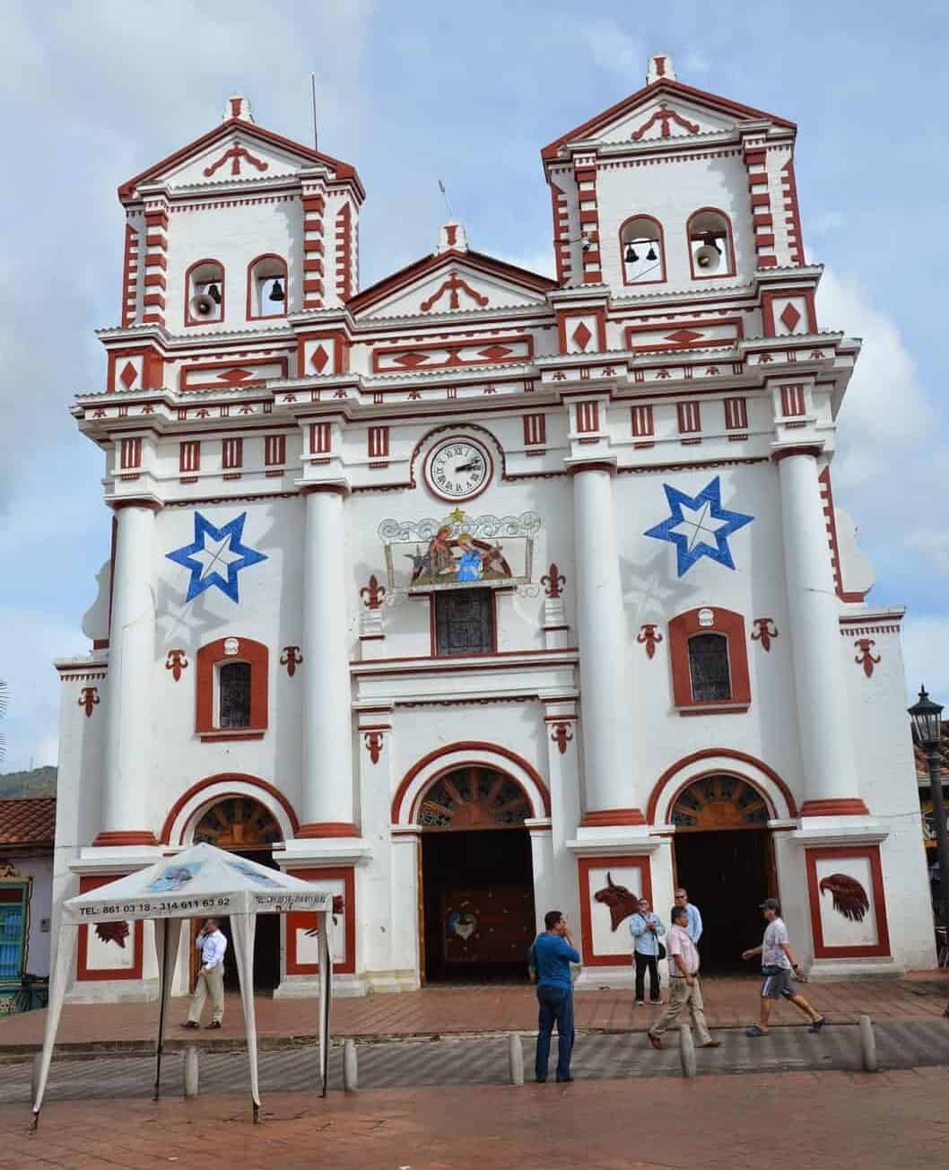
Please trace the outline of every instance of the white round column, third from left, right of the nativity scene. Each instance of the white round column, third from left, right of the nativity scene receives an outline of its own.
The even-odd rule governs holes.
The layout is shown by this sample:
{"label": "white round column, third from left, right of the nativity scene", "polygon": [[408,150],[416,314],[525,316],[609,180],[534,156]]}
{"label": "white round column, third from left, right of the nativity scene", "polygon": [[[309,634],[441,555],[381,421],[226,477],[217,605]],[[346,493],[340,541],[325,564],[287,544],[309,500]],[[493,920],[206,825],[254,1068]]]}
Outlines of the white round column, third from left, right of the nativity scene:
{"label": "white round column, third from left, right of the nativity scene", "polygon": [[584,824],[642,824],[633,777],[632,713],[626,686],[626,617],[619,581],[612,470],[573,474],[577,632],[580,651]]}

